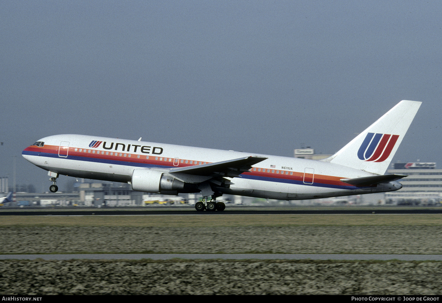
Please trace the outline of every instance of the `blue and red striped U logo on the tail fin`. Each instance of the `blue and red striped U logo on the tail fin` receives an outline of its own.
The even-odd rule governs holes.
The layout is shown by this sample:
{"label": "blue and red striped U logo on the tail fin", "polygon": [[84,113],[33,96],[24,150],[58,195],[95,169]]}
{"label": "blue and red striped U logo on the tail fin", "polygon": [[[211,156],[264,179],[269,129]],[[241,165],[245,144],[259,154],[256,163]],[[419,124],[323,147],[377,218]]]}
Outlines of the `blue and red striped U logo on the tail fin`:
{"label": "blue and red striped U logo on the tail fin", "polygon": [[358,158],[364,161],[382,162],[385,161],[399,135],[397,134],[375,134],[368,133],[358,150]]}

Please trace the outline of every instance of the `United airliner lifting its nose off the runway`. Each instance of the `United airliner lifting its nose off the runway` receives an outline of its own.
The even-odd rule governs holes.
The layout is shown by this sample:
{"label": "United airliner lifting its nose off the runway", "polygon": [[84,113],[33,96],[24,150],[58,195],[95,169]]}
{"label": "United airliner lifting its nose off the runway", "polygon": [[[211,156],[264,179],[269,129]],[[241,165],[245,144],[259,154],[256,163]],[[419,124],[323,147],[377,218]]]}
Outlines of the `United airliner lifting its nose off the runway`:
{"label": "United airliner lifting its nose off the runway", "polygon": [[23,157],[58,176],[132,184],[140,192],[201,193],[198,211],[222,211],[223,194],[299,200],[390,192],[404,175],[384,175],[421,102],[403,100],[333,156],[278,157],[201,147],[61,134],[42,138]]}

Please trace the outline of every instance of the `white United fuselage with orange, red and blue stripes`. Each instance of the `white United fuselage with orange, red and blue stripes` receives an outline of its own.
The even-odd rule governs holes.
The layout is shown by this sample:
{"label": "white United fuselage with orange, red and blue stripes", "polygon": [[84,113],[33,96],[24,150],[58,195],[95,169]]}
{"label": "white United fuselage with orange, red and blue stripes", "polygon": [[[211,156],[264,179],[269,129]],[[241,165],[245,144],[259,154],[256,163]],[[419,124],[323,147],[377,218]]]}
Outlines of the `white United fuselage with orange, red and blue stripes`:
{"label": "white United fuselage with orange, red and blue stripes", "polygon": [[220,189],[221,194],[294,200],[386,191],[340,181],[374,174],[327,161],[76,134],[38,142],[43,142],[42,146],[23,150],[25,159],[51,173],[79,178],[130,183],[134,169],[189,167],[256,155],[267,160],[253,165],[241,177],[231,178],[234,184]]}

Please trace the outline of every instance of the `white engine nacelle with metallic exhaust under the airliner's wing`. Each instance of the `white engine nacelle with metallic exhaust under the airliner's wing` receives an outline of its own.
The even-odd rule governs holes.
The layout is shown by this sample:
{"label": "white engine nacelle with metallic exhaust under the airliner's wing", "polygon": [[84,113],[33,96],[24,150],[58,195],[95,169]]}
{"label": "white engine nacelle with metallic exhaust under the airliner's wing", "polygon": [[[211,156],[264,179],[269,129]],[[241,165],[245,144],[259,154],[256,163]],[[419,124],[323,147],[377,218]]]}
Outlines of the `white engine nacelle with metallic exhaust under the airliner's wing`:
{"label": "white engine nacelle with metallic exhaust under the airliner's wing", "polygon": [[184,182],[164,176],[155,169],[134,169],[132,173],[132,189],[138,192],[179,191]]}

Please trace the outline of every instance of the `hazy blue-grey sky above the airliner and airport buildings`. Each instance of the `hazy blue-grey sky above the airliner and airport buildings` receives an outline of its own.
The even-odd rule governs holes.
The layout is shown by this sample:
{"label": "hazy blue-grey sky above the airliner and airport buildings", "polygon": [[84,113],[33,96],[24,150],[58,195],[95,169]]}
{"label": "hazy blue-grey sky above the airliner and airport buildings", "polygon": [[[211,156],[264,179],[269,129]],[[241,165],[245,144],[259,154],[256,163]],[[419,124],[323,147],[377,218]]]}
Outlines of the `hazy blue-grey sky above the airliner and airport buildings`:
{"label": "hazy blue-grey sky above the airliner and airport buildings", "polygon": [[442,168],[441,6],[1,1],[0,176],[16,156],[47,191],[21,151],[53,134],[335,153],[400,100],[423,104],[393,161]]}

